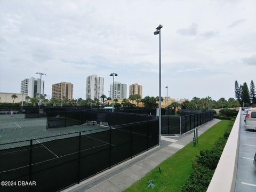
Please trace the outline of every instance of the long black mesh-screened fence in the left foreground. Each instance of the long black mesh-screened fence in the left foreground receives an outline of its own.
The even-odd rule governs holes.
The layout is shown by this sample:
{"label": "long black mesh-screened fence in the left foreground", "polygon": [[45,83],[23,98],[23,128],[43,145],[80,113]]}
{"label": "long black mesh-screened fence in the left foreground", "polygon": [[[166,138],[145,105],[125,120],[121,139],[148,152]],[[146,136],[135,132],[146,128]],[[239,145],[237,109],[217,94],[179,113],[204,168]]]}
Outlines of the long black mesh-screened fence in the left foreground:
{"label": "long black mesh-screened fence in the left foreground", "polygon": [[158,119],[22,142],[0,145],[0,180],[17,183],[1,191],[59,191],[158,145]]}

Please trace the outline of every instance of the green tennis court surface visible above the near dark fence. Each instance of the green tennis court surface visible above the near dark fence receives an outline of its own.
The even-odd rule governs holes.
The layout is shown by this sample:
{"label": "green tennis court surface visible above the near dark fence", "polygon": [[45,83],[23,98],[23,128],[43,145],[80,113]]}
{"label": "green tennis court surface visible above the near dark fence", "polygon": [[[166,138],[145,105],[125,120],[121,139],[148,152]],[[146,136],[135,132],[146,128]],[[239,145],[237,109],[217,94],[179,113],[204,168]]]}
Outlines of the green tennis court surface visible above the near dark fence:
{"label": "green tennis court surface visible above the near dark fence", "polygon": [[[87,134],[90,134],[109,129],[106,126],[99,125],[74,125],[46,130],[46,118],[25,119],[24,116],[24,114],[0,115],[0,144],[79,131],[88,131]],[[73,137],[73,135],[71,134],[70,137]]]}

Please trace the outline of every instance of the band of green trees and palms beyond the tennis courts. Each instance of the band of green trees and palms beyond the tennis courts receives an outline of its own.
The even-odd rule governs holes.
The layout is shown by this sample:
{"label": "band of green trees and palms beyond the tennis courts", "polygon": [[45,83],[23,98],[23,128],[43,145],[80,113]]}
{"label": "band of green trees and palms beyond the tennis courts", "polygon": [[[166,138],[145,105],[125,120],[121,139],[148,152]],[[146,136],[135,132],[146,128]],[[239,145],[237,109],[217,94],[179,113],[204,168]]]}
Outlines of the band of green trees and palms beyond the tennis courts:
{"label": "band of green trees and palms beyond the tennis courts", "polygon": [[[16,95],[17,96],[17,95]],[[30,98],[26,96],[26,100],[23,102],[23,106],[38,106],[39,100],[41,101],[41,106],[67,106],[67,107],[105,107],[111,106],[112,99],[110,97],[106,97],[105,94],[102,94],[100,99],[68,99],[66,97],[62,97],[61,99],[52,98],[50,100],[45,98],[46,95],[37,94],[36,98]],[[15,95],[12,95],[13,103]],[[145,98],[141,98],[139,94],[130,95],[128,99],[123,99],[121,103],[118,102],[118,99],[114,99],[114,106],[116,108],[120,107],[139,107],[139,103],[143,103],[146,108],[158,108],[158,100],[159,97],[150,97],[146,96]],[[163,101],[163,98],[161,98]],[[29,102],[30,101],[30,102]],[[3,105],[4,103],[2,103]],[[13,105],[13,104],[12,104]],[[229,108],[229,107],[239,107],[241,106],[241,102],[234,98],[229,98],[226,100],[225,98],[220,98],[218,101],[213,100],[211,97],[207,96],[205,98],[194,97],[191,101],[184,101],[182,103],[172,102],[167,108],[170,109],[194,109],[194,110],[210,110],[215,108]]]}

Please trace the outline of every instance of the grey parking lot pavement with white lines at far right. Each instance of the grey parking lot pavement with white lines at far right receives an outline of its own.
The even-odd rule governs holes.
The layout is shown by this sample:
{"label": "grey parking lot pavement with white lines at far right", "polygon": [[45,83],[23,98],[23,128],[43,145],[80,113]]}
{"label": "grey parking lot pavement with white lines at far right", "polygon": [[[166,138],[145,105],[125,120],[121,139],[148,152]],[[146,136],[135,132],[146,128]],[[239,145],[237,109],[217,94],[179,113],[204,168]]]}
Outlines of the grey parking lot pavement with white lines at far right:
{"label": "grey parking lot pavement with white lines at far right", "polygon": [[241,114],[239,155],[235,191],[256,191],[256,167],[253,157],[256,151],[256,132],[244,127],[244,116]]}

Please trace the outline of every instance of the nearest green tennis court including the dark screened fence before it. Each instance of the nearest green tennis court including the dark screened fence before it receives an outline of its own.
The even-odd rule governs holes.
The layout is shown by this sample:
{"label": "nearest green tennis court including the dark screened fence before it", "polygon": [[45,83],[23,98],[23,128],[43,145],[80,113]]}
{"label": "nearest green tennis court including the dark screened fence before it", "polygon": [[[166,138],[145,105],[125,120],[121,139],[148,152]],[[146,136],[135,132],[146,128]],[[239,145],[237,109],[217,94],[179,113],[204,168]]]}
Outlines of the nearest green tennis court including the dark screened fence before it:
{"label": "nearest green tennis court including the dark screened fence before it", "polygon": [[3,115],[0,122],[0,179],[36,181],[36,186],[1,191],[58,191],[158,144],[158,119],[47,130],[46,118]]}

